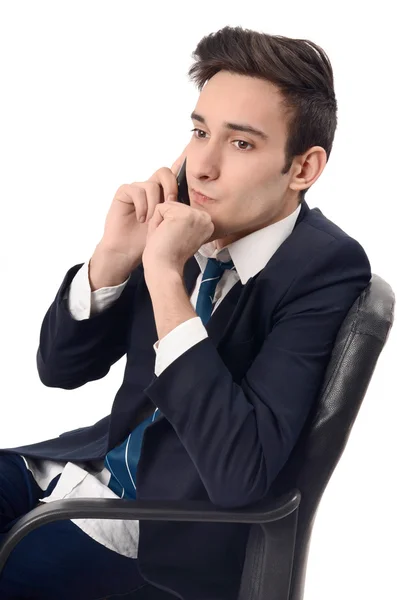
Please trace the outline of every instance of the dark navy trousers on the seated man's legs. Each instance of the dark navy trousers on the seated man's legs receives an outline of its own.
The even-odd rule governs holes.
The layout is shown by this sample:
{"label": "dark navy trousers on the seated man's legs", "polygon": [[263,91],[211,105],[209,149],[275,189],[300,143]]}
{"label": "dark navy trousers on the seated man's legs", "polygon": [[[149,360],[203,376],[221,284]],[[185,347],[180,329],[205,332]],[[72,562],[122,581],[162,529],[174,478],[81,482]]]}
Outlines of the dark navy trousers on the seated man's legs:
{"label": "dark navy trousers on the seated man's legs", "polygon": [[[43,492],[18,455],[0,454],[0,545],[6,532]],[[0,574],[1,600],[99,600],[156,598],[136,561],[99,544],[71,521],[56,521],[25,536]]]}

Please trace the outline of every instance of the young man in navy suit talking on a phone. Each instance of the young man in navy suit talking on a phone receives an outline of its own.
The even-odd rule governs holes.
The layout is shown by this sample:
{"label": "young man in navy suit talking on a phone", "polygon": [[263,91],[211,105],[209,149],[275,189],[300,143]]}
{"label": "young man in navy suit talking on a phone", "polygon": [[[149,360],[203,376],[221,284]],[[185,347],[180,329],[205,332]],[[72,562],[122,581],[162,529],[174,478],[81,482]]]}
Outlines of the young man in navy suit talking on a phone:
{"label": "young man in navy suit talking on a phone", "polygon": [[[41,329],[50,387],[104,377],[127,355],[112,412],[3,451],[3,532],[39,500],[263,499],[371,279],[361,245],[304,200],[337,123],[324,51],[225,27],[201,40],[190,75],[201,92],[191,141],[171,169],[117,190],[91,260],[68,271]],[[190,206],[172,199],[185,158]],[[0,596],[231,600],[247,533],[52,523],[17,546]]]}

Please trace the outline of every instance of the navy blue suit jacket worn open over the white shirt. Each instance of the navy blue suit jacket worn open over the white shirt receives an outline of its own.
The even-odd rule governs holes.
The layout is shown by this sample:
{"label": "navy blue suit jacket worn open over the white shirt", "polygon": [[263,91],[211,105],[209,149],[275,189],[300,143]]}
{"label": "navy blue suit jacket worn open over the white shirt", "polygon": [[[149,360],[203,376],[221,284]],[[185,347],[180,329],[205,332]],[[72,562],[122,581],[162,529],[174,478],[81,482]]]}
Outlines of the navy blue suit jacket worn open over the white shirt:
{"label": "navy blue suit jacket worn open over the white shirt", "polygon": [[[316,401],[339,327],[368,285],[361,245],[303,202],[291,235],[245,285],[236,283],[190,348],[159,377],[157,340],[142,265],[115,304],[75,321],[63,299],[66,274],[45,315],[37,366],[50,387],[104,377],[127,355],[111,414],[91,427],[8,451],[55,460],[102,459],[154,407],[144,435],[138,499],[210,499],[220,507],[261,500],[293,449]],[[199,274],[185,265],[190,295]],[[248,526],[140,523],[145,576],[182,597],[237,597]]]}

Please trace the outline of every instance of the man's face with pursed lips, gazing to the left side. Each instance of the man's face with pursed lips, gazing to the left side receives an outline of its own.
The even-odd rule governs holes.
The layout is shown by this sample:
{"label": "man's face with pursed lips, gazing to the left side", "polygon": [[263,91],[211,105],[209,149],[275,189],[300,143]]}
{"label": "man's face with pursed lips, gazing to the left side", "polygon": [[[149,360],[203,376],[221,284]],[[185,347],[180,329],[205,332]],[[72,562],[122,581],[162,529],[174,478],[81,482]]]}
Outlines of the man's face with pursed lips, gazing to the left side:
{"label": "man's face with pursed lips, gazing to the left side", "polygon": [[[193,119],[199,131],[187,146],[186,178],[191,206],[211,215],[210,240],[219,248],[298,206],[298,192],[289,187],[293,167],[281,174],[287,140],[281,99],[273,84],[227,71],[218,72],[201,91],[194,113],[205,123]],[[227,129],[224,122],[250,125],[266,138]],[[215,201],[199,203],[192,190]]]}

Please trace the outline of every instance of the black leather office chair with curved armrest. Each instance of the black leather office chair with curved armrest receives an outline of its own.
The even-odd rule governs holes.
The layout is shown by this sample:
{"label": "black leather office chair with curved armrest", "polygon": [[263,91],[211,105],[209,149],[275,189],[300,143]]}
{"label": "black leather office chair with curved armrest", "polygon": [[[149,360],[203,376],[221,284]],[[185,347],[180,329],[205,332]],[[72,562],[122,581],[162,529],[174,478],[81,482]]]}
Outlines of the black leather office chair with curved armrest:
{"label": "black leather office chair with curved armrest", "polygon": [[[317,508],[387,341],[394,305],[391,287],[373,275],[340,328],[319,401],[263,502],[231,511],[193,501],[58,500],[35,508],[10,530],[0,550],[0,573],[16,544],[27,533],[50,521],[70,518],[233,521],[252,524],[239,600],[302,600]],[[157,593],[156,598],[172,598],[160,590]],[[140,596],[135,598],[138,600]]]}

